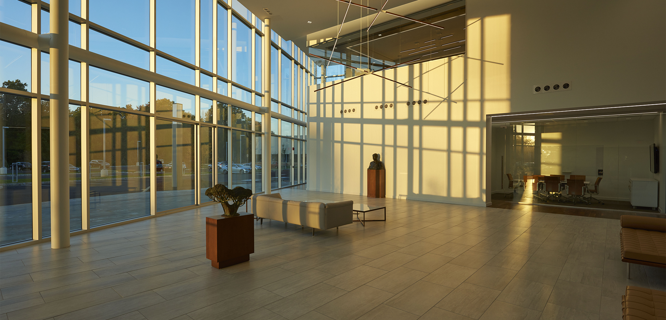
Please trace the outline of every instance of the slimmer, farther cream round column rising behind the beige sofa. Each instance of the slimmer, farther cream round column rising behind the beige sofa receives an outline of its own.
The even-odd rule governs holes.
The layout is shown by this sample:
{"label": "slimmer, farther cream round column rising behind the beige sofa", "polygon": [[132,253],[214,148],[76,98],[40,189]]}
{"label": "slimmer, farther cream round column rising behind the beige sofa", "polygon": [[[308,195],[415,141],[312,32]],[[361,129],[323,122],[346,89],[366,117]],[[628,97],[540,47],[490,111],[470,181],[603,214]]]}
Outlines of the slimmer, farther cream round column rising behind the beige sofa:
{"label": "slimmer, farther cream round column rising behind the beige sofa", "polygon": [[264,122],[262,124],[264,126],[264,146],[262,148],[261,170],[264,173],[264,194],[270,194],[270,169],[272,166],[272,159],[270,158],[270,116],[272,112],[270,110],[270,19],[268,18],[264,19],[264,63],[262,67],[264,68],[264,106],[266,107],[266,113],[262,119],[262,122]]}

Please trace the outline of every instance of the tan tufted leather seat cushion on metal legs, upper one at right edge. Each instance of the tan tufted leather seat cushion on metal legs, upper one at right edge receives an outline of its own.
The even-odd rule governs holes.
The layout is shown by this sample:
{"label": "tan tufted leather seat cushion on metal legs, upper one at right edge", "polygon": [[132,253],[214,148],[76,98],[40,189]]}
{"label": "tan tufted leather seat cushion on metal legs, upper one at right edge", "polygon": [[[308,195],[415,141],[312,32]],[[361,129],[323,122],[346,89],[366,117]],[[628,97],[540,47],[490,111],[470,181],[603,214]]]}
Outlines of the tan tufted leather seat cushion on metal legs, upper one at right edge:
{"label": "tan tufted leather seat cushion on metal legs, upper one at right edge", "polygon": [[622,228],[620,246],[627,259],[666,264],[666,233]]}

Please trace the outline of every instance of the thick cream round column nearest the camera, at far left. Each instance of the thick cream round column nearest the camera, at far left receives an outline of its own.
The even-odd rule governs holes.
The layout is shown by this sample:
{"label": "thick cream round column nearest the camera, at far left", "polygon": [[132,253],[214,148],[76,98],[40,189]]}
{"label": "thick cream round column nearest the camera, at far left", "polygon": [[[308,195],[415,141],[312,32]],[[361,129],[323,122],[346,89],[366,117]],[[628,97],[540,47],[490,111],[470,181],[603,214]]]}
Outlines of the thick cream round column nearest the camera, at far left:
{"label": "thick cream round column nearest the camera, at far left", "polygon": [[51,247],[69,247],[69,0],[51,0]]}

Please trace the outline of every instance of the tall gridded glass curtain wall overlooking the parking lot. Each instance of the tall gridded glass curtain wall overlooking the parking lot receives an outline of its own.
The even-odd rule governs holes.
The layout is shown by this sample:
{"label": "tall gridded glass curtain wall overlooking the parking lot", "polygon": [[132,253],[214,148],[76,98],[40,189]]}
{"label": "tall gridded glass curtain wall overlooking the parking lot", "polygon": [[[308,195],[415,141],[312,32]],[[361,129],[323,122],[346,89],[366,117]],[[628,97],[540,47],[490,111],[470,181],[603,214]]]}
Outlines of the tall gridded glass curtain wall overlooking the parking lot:
{"label": "tall gridded glass curtain wall overlooking the parking lot", "polygon": [[[51,234],[49,53],[7,41],[3,30],[48,33],[53,17],[44,1],[5,2],[0,245]],[[69,61],[72,231],[204,204],[217,183],[256,193],[263,179],[271,188],[307,181],[311,61],[276,33],[264,57],[264,24],[238,1],[69,3],[70,47],[84,49],[83,61]],[[88,52],[125,65],[88,62]],[[266,121],[272,150],[263,150]]]}

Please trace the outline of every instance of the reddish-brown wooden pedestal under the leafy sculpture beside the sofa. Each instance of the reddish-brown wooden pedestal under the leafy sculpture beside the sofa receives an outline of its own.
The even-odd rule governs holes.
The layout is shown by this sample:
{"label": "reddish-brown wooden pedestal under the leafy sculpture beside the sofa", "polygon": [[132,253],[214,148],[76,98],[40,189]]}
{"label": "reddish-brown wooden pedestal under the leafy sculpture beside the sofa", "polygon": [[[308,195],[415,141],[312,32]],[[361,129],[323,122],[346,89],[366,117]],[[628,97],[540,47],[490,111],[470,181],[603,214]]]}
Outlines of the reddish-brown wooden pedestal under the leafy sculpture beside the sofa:
{"label": "reddish-brown wooden pedestal under the leafy sculpture beside the sofa", "polygon": [[254,215],[206,217],[206,259],[218,269],[250,260],[254,253]]}

